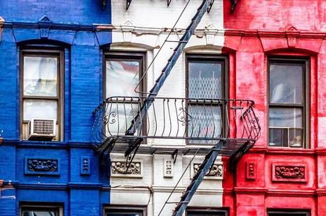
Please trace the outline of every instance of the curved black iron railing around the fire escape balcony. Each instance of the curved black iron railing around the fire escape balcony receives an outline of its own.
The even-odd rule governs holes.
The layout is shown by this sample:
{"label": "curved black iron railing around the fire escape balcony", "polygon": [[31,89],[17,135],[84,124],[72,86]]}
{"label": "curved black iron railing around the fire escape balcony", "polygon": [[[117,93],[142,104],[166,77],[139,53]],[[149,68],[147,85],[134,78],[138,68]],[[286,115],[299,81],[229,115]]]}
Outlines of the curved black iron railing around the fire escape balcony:
{"label": "curved black iron railing around the fire escape balcony", "polygon": [[111,97],[94,110],[93,138],[99,145],[113,137],[184,139],[189,144],[211,144],[235,139],[255,142],[260,126],[254,101],[238,99],[154,98],[140,128],[126,133],[141,115],[145,97]]}

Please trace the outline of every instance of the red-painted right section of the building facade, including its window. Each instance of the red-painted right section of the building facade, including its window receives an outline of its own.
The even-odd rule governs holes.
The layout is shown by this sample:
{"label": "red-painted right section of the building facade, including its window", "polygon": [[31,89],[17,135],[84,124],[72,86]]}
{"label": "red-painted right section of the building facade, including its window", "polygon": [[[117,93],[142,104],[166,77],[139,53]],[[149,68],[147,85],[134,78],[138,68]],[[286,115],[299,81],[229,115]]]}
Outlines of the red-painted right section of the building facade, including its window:
{"label": "red-painted right section of the building facade, including its window", "polygon": [[326,215],[326,2],[242,0],[233,14],[223,3],[230,98],[252,98],[262,125],[227,171],[223,206],[230,216]]}

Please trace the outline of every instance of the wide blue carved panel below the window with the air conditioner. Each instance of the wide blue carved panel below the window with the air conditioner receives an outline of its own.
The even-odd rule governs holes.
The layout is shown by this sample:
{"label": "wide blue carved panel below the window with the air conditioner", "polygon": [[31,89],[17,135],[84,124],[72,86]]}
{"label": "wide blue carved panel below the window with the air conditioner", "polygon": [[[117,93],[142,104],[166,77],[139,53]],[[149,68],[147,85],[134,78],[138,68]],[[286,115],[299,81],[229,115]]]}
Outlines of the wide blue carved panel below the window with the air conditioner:
{"label": "wide blue carved panel below the window with the air conditioner", "polygon": [[60,159],[25,157],[25,174],[60,175]]}

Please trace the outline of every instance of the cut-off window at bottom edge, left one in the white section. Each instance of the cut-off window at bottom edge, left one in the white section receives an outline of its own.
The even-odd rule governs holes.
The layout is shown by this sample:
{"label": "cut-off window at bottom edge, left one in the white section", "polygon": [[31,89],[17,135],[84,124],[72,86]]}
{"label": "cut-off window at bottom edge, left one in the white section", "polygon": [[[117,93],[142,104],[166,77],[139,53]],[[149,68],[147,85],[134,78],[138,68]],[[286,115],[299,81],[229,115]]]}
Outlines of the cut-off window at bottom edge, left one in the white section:
{"label": "cut-off window at bottom edge, left one in the white section", "polygon": [[146,208],[128,206],[110,206],[104,208],[105,216],[146,216]]}

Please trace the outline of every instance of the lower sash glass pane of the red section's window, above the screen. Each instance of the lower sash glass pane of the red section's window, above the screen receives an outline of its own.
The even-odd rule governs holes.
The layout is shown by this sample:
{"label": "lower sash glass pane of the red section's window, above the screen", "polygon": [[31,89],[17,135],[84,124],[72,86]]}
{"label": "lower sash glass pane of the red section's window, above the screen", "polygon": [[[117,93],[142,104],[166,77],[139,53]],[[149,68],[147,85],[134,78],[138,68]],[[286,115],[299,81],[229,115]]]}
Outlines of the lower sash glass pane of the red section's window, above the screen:
{"label": "lower sash glass pane of the red section's window, above the screen", "polygon": [[269,108],[269,127],[303,127],[301,108]]}

